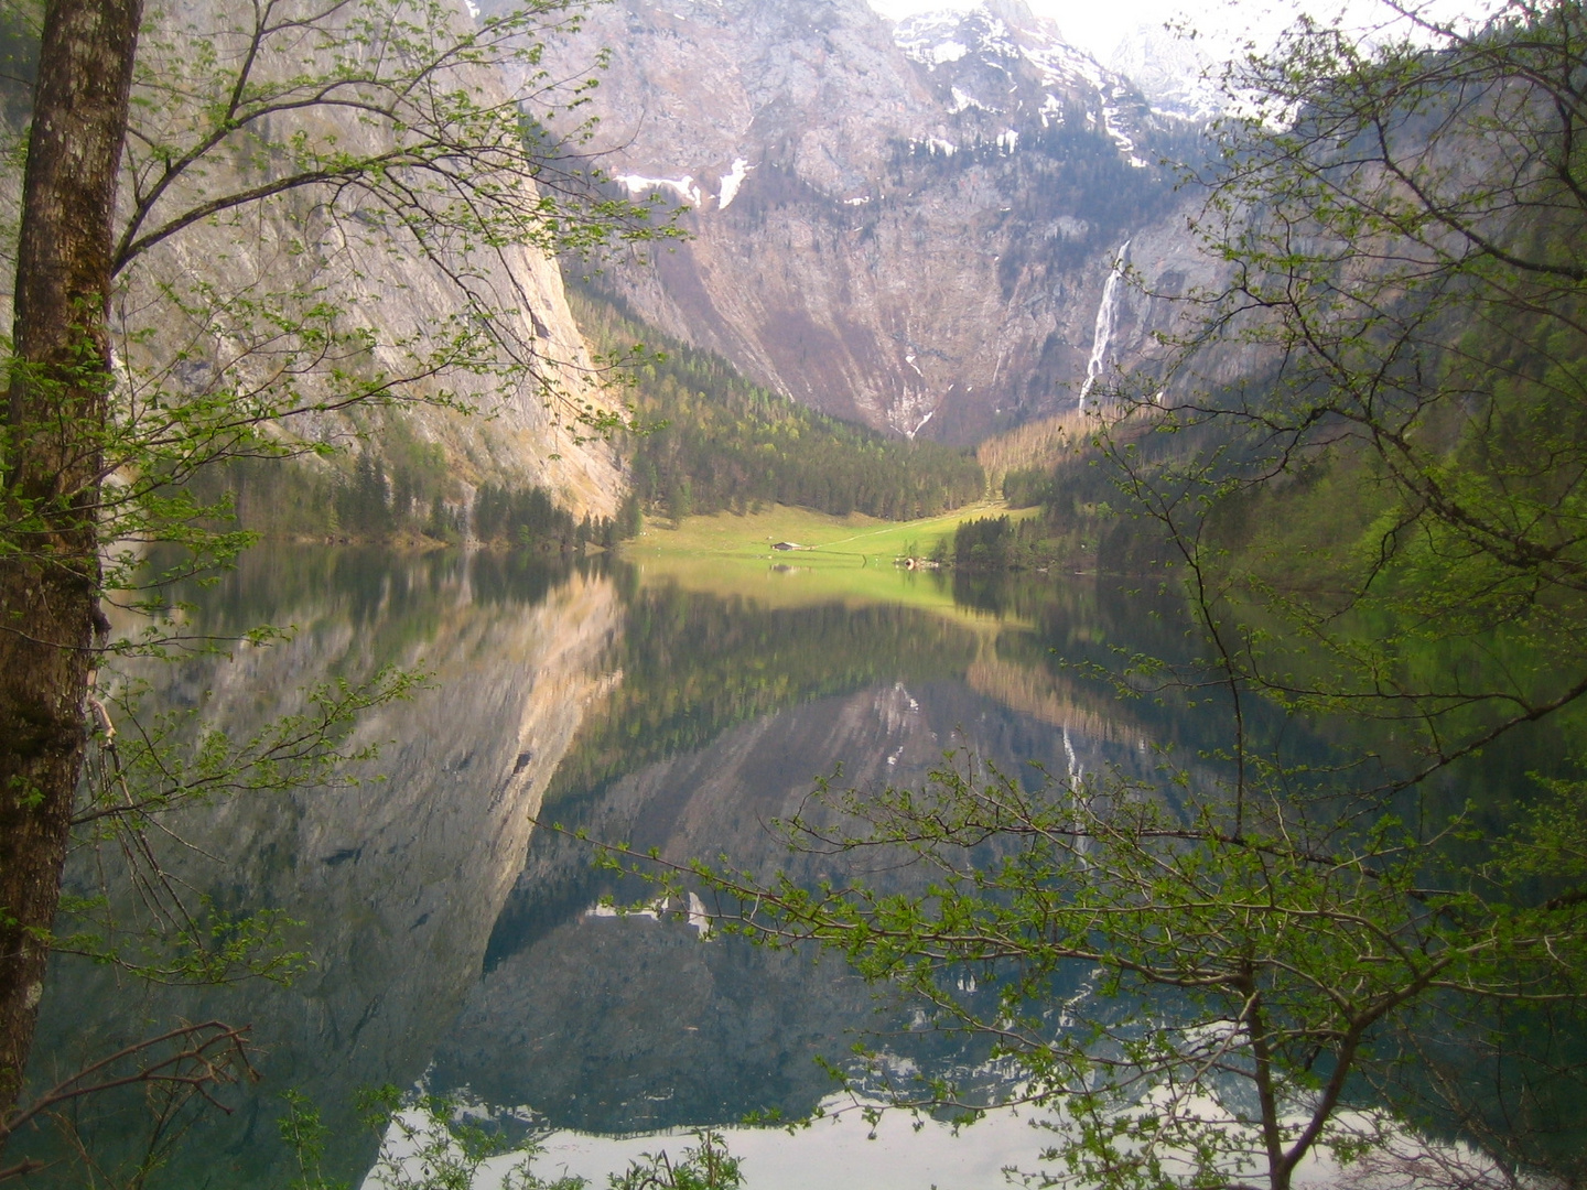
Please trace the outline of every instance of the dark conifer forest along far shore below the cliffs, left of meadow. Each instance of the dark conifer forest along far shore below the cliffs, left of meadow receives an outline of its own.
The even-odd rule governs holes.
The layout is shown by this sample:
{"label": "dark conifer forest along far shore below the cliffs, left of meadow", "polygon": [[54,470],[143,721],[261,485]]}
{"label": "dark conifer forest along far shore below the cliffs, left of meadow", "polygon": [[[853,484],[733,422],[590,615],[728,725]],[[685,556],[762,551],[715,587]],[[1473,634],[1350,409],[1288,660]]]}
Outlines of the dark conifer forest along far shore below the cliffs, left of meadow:
{"label": "dark conifer forest along far shore below the cliffs, left of meadow", "polygon": [[671,519],[765,505],[884,520],[935,516],[981,498],[973,454],[932,441],[887,438],[806,409],[746,381],[709,352],[625,317],[609,298],[571,290],[595,346],[643,344],[608,373],[611,395],[632,403],[638,432],[619,441],[632,490],[614,517],[570,516],[535,484],[487,481],[465,498],[444,452],[402,420],[371,427],[336,465],[227,460],[200,471],[194,493],[229,508],[241,528],[344,541],[476,541],[541,552],[632,538],[644,512]]}

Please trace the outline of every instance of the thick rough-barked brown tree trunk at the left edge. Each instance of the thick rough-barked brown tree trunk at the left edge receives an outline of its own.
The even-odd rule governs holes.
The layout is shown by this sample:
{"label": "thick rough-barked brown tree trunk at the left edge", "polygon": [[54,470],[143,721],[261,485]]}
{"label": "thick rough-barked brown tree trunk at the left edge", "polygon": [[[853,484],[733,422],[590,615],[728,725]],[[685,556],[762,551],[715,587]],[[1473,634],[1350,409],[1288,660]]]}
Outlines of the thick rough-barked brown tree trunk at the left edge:
{"label": "thick rough-barked brown tree trunk at the left edge", "polygon": [[95,665],[116,175],[141,0],[49,0],[0,438],[0,1115],[21,1090]]}

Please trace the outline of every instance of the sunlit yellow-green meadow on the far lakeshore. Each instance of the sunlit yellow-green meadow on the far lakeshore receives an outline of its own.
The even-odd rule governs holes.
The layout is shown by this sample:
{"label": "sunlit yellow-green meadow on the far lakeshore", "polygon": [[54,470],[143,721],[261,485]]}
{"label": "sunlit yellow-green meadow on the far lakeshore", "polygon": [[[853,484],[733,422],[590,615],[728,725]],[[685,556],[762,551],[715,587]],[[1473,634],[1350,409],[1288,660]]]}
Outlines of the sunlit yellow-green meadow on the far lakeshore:
{"label": "sunlit yellow-green meadow on the far lakeshore", "polygon": [[[622,557],[638,566],[646,582],[670,581],[771,606],[906,603],[955,620],[990,624],[990,617],[954,603],[949,574],[905,570],[895,559],[928,555],[963,520],[1035,512],[981,503],[940,517],[897,522],[778,505],[746,516],[686,517],[676,528],[670,520],[646,520],[644,532],[622,544]],[[776,543],[798,549],[776,551]]]}

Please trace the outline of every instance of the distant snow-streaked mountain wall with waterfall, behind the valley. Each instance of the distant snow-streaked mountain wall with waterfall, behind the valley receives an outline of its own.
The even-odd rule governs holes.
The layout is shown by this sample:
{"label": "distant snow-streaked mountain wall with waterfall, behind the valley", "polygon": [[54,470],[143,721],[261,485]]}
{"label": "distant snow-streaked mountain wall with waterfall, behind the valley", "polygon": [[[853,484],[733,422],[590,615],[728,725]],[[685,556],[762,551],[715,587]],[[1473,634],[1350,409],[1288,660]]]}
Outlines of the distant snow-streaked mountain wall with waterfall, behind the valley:
{"label": "distant snow-streaked mountain wall with waterfall, behind the valley", "polygon": [[611,49],[594,109],[630,195],[694,240],[613,267],[647,321],[757,381],[968,443],[1070,408],[1208,270],[1163,162],[1200,129],[1020,0],[897,27],[863,0],[617,0],[552,43]]}

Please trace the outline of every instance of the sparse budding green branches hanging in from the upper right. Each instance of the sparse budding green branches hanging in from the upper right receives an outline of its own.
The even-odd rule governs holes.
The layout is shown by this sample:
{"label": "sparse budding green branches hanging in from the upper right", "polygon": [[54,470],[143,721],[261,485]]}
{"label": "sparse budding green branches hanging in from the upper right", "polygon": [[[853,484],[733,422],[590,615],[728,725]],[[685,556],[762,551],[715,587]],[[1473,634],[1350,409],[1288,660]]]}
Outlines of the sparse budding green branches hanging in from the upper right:
{"label": "sparse budding green branches hanging in from the upper right", "polygon": [[[1200,227],[1228,284],[1108,447],[1209,670],[1385,724],[1406,784],[1587,693],[1581,8],[1416,32],[1244,67]],[[1198,387],[1232,349],[1251,378]]]}

